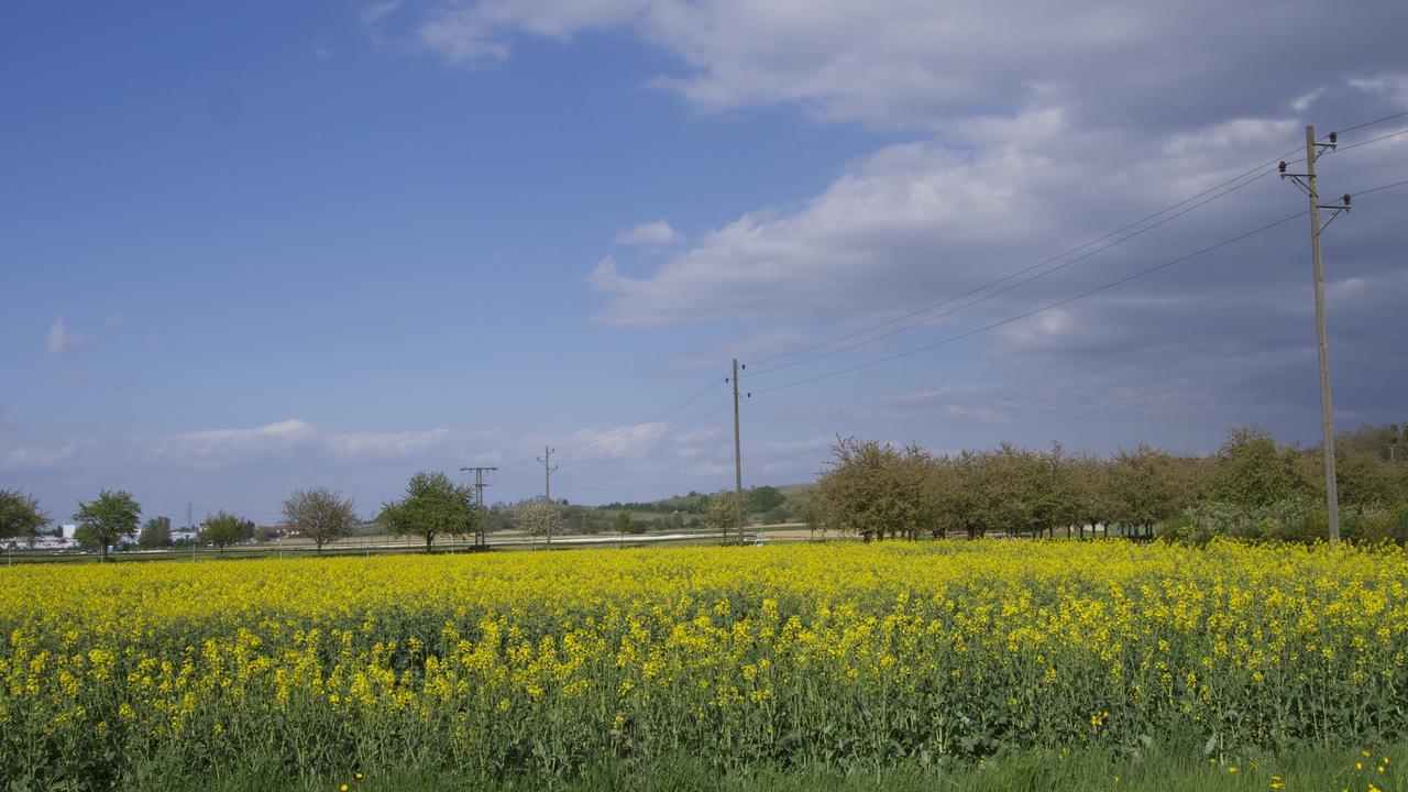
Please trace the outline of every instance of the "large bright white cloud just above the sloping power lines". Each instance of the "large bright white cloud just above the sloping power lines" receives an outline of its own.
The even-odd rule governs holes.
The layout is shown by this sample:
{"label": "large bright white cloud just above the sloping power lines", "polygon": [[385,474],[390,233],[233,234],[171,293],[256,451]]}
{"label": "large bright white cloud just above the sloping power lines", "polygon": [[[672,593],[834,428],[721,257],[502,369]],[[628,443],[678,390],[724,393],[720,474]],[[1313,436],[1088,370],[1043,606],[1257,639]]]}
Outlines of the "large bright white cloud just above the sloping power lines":
{"label": "large bright white cloud just above the sloping power lines", "polygon": [[887,147],[800,207],[743,214],[641,276],[605,258],[587,278],[608,297],[597,318],[655,327],[908,310],[1205,190],[1297,131],[1238,118],[1150,140],[1067,116],[1032,107],[955,125],[943,142]]}

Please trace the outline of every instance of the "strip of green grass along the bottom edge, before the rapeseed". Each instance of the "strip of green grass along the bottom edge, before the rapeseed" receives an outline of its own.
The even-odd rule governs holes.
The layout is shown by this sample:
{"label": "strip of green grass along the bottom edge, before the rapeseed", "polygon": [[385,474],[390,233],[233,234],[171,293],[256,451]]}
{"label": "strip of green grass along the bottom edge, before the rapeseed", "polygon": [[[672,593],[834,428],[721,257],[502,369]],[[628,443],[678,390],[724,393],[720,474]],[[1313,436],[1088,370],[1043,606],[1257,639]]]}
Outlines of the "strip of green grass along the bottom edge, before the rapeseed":
{"label": "strip of green grass along the bottom edge, before the rapeseed", "polygon": [[[1373,750],[1363,758],[1363,750]],[[1383,758],[1388,757],[1388,764]],[[1356,762],[1363,768],[1356,769]],[[1408,791],[1408,775],[1400,769],[1408,762],[1408,744],[1390,748],[1295,751],[1286,755],[1246,755],[1209,762],[1200,750],[1178,745],[1150,750],[1142,755],[1102,750],[1067,753],[1033,750],[988,758],[980,764],[949,761],[904,761],[891,767],[765,767],[718,772],[703,760],[676,757],[648,767],[617,761],[589,768],[567,782],[536,776],[469,778],[453,771],[365,768],[365,778],[355,778],[349,768],[344,778],[289,779],[284,771],[260,769],[231,778],[204,778],[170,785],[146,779],[142,789],[166,792],[276,792],[280,789],[313,792],[337,791],[342,784],[355,792],[441,792],[458,789],[527,791],[562,789],[565,792],[659,791],[659,792],[852,792],[862,789],[984,792],[984,791],[1229,791],[1259,792],[1333,791],[1364,792],[1370,784],[1383,792]],[[1378,772],[1384,767],[1384,772]],[[1232,768],[1236,768],[1235,771]]]}

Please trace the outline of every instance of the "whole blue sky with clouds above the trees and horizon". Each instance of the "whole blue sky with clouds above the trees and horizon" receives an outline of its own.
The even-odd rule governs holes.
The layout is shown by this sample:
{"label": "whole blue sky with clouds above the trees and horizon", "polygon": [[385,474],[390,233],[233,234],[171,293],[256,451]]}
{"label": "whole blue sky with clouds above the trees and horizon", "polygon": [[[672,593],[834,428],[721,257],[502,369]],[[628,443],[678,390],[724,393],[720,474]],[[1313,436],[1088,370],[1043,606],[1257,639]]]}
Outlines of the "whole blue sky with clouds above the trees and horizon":
{"label": "whole blue sky with clouds above the trees and horizon", "polygon": [[[553,482],[580,502],[728,486],[729,413],[690,421],[725,403],[729,358],[1033,265],[1294,151],[1307,123],[1408,110],[1401,4],[1202,6],[14,6],[0,486],[63,519],[100,488],[149,516],[272,521],[327,485],[370,514],[420,468],[527,462],[490,497],[531,496],[543,444],[589,459]],[[1369,142],[1404,128],[1346,132],[1364,145],[1322,161],[1325,190],[1408,179],[1408,135]],[[932,344],[1302,207],[1269,175],[1238,183],[743,388]],[[1326,235],[1345,427],[1408,419],[1405,209],[1408,189],[1373,193]],[[1262,423],[1314,441],[1305,237],[1290,223],[759,393],[745,478],[807,481],[836,434],[1202,452]]]}

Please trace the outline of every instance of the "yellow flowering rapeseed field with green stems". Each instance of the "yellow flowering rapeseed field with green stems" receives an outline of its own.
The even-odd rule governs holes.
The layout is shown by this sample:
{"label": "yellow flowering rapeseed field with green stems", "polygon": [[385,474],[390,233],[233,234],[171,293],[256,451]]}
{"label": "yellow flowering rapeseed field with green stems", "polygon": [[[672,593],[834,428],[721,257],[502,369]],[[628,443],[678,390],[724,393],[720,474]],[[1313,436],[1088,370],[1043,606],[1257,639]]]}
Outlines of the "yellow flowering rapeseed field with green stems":
{"label": "yellow flowering rapeseed field with green stems", "polygon": [[1124,541],[0,568],[0,776],[1394,740],[1405,585]]}

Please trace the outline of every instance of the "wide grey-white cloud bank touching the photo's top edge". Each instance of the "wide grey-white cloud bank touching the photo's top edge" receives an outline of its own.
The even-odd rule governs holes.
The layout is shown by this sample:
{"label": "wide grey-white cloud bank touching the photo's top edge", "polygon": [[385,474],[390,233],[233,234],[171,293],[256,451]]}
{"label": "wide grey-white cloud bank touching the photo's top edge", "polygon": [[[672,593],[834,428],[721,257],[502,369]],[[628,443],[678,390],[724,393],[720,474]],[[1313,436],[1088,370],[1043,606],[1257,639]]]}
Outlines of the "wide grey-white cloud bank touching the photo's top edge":
{"label": "wide grey-white cloud bank touching the photo's top edge", "polygon": [[[625,28],[683,63],[653,83],[705,110],[788,103],[829,121],[932,128],[1053,92],[1079,92],[1093,113],[1114,116],[1133,104],[1176,116],[1226,94],[1286,107],[1267,86],[1314,85],[1326,63],[1353,70],[1393,56],[1405,23],[1393,0],[1333,16],[1212,0],[453,0],[425,14],[418,37],[465,63],[503,59],[524,34],[565,41]],[[1287,61],[1311,28],[1316,58]]]}

